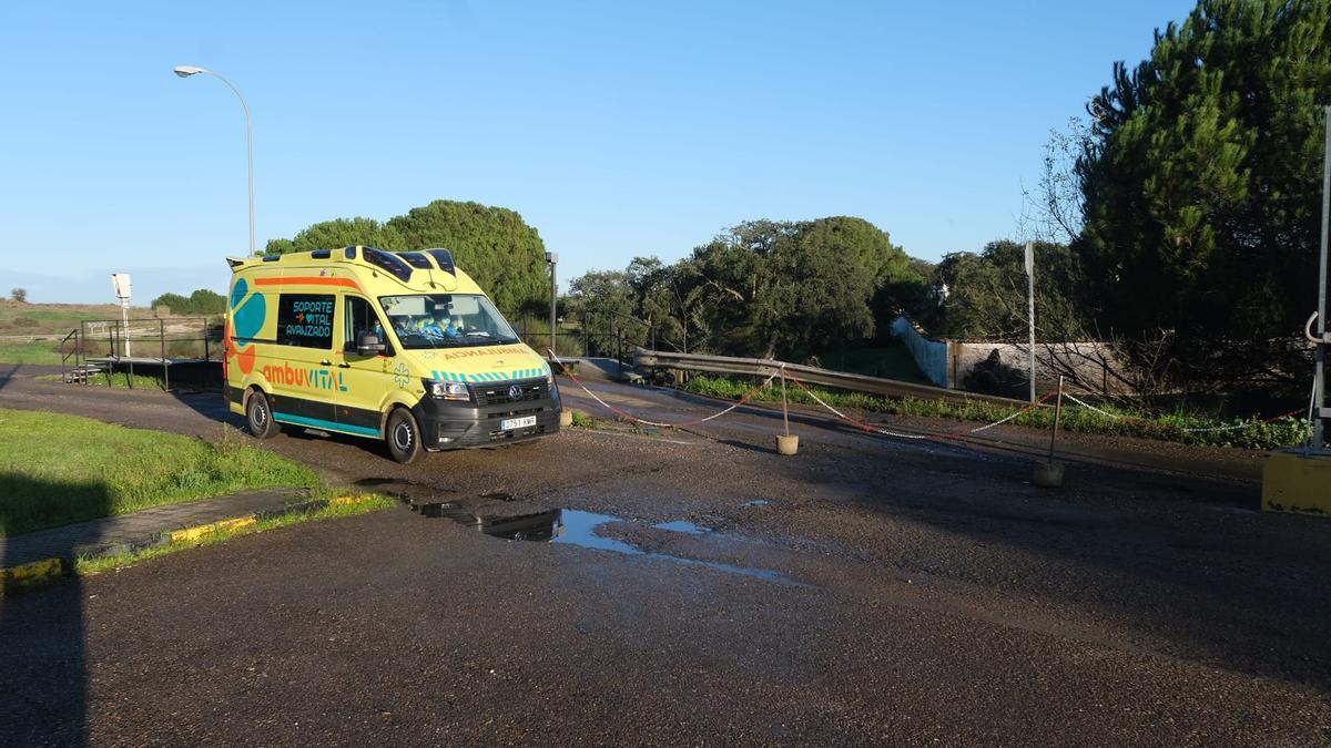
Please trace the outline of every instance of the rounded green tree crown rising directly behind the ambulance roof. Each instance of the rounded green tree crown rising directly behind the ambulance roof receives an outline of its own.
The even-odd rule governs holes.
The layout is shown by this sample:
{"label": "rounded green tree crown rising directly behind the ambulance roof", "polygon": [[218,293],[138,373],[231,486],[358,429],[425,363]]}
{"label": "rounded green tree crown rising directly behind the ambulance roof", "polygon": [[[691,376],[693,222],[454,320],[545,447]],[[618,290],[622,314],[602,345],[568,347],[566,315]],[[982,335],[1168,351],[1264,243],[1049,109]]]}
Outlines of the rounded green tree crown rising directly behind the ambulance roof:
{"label": "rounded green tree crown rising directly behind the ambulance roof", "polygon": [[506,208],[437,200],[385,224],[337,218],[314,224],[290,240],[273,240],[276,253],[363,244],[394,252],[443,248],[510,317],[539,310],[550,299],[546,245],[536,229]]}

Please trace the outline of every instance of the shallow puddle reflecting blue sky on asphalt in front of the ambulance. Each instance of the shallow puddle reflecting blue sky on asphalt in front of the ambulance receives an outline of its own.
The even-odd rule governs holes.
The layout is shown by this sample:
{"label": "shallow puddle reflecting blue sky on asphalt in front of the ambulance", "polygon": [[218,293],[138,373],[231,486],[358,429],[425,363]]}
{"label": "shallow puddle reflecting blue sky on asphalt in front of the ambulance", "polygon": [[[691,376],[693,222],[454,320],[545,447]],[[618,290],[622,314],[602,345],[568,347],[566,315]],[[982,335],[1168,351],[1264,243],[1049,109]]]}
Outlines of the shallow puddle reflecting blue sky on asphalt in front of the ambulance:
{"label": "shallow puddle reflecting blue sky on asphalt in front of the ambulance", "polygon": [[[725,574],[749,576],[764,582],[772,582],[775,584],[789,584],[795,587],[809,586],[796,579],[791,579],[779,571],[691,559],[672,554],[663,554],[660,551],[644,551],[632,543],[596,534],[596,528],[604,524],[627,522],[623,518],[610,514],[596,514],[575,508],[556,508],[518,516],[482,518],[451,502],[421,504],[419,511],[423,516],[443,516],[458,522],[459,524],[474,527],[486,535],[507,540],[543,540],[562,546],[578,546],[579,548],[611,551],[628,556],[647,556],[685,566],[703,566]],[[693,535],[705,535],[707,532],[711,532],[707,527],[699,527],[684,520],[666,522],[655,524],[654,527]]]}

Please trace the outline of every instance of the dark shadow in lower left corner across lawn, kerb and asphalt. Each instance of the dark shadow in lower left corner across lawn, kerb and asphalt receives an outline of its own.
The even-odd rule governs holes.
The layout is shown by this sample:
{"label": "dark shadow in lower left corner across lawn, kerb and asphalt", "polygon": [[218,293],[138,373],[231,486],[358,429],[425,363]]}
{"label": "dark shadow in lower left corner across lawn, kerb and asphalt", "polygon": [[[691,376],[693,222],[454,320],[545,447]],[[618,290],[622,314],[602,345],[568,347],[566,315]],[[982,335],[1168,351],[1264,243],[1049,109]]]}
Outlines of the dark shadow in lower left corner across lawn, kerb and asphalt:
{"label": "dark shadow in lower left corner across lawn, kerb and asphalt", "polygon": [[[33,511],[77,503],[81,512],[104,515],[110,496],[104,486],[35,480],[0,472],[0,530],[29,523]],[[48,507],[43,510],[43,507]],[[19,536],[21,538],[21,536]],[[3,544],[4,567],[32,560],[32,546]],[[41,556],[68,558],[73,548],[49,544]],[[79,578],[36,590],[0,594],[0,743],[8,745],[84,745],[88,743],[89,672],[84,622],[84,586]]]}

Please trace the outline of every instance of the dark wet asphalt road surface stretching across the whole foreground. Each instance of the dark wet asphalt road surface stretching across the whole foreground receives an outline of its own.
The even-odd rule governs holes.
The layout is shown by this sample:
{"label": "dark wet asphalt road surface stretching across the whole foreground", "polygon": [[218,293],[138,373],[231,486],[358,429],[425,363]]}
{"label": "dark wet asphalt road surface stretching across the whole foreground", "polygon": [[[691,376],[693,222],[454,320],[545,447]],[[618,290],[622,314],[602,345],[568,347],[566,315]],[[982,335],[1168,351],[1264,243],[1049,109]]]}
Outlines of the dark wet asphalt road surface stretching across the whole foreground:
{"label": "dark wet asphalt road surface stretching across the whole foreground", "polygon": [[[711,407],[595,387],[656,415]],[[216,395],[24,371],[0,407],[204,437],[224,413]],[[417,500],[570,510],[567,534],[504,540],[391,510],[4,600],[0,729],[19,744],[1331,741],[1331,526],[1254,511],[1255,455],[1155,450],[1177,459],[1126,467],[1131,443],[1085,439],[1047,492],[1022,455],[1040,435],[1020,429],[966,445],[796,423],[793,458],[759,411],[410,467],[369,442],[280,437],[268,446],[333,479]],[[1213,465],[1231,468],[1198,476]],[[619,519],[588,532],[580,512]],[[654,527],[677,520],[708,531]]]}

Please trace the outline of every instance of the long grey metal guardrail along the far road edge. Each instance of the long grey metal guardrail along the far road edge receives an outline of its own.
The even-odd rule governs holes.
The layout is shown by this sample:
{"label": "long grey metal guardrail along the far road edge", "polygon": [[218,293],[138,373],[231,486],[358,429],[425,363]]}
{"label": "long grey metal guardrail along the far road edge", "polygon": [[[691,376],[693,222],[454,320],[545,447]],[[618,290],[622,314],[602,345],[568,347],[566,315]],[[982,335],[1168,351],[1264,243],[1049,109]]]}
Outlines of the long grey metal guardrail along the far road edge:
{"label": "long grey metal guardrail along the far road edge", "polygon": [[769,358],[736,358],[729,355],[701,355],[695,353],[673,353],[664,350],[634,350],[634,363],[646,367],[680,369],[687,371],[709,371],[715,374],[748,374],[752,377],[769,377],[785,367],[787,374],[795,375],[801,382],[851,390],[853,393],[868,393],[892,398],[914,398],[946,401],[953,403],[986,402],[1008,407],[1024,407],[1030,405],[1026,401],[1001,398],[997,395],[981,395],[958,390],[944,390],[916,385],[913,382],[900,382],[897,379],[882,379],[880,377],[865,377],[864,374],[847,374],[844,371],[831,371],[816,366],[801,363],[785,363]]}

